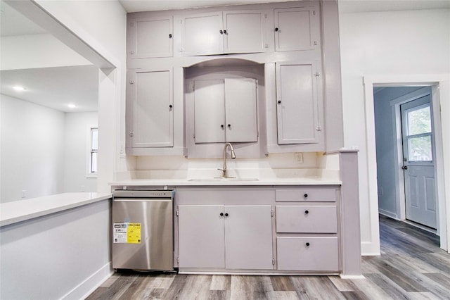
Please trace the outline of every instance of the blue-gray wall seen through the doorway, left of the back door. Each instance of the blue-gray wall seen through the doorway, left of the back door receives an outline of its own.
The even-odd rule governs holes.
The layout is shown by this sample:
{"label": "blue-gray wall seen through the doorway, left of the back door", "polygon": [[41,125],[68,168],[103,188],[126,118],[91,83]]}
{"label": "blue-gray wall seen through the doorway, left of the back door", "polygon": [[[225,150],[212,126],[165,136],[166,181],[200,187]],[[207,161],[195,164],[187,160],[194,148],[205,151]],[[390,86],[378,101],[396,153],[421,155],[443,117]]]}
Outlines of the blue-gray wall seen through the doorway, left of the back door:
{"label": "blue-gray wall seen through the doorway, left of the back door", "polygon": [[392,119],[394,107],[390,104],[392,99],[409,94],[421,87],[385,87],[374,94],[375,108],[375,137],[377,150],[377,177],[378,177],[378,208],[380,213],[399,218],[397,211],[397,137],[396,124]]}

